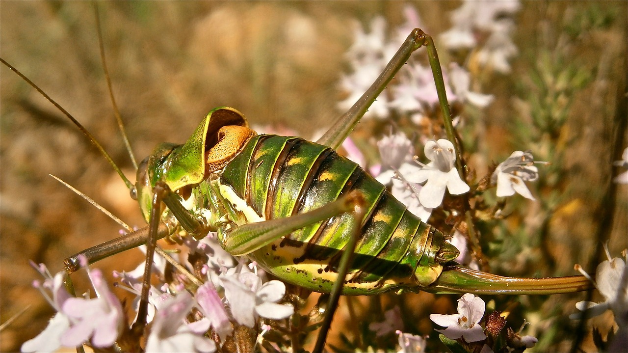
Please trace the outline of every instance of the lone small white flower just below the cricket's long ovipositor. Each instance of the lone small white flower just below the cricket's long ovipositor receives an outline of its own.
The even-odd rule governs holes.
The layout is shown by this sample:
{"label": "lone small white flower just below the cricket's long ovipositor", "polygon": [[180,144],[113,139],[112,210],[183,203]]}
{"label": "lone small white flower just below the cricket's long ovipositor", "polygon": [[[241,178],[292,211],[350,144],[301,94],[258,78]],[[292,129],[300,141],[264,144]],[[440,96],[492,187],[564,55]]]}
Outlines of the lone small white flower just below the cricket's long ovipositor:
{"label": "lone small white flower just below the cricket's long ovipositor", "polygon": [[462,337],[467,342],[477,342],[486,338],[484,329],[479,322],[484,316],[484,300],[478,296],[466,293],[458,299],[458,313],[453,315],[430,314],[430,320],[437,325],[447,327],[445,330],[436,330],[448,339]]}

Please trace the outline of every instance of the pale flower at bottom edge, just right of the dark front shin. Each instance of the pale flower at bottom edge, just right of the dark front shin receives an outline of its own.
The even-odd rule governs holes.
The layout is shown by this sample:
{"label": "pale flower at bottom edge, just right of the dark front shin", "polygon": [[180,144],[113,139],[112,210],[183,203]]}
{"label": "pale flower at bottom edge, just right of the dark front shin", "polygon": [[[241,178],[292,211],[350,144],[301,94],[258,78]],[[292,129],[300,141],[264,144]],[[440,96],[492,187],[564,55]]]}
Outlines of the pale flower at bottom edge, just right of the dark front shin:
{"label": "pale flower at bottom edge, just right of the dark front shin", "polygon": [[190,325],[185,322],[193,305],[192,296],[187,291],[170,298],[156,314],[146,340],[146,352],[214,352],[214,341],[200,333],[207,330],[208,325],[201,328],[198,322]]}

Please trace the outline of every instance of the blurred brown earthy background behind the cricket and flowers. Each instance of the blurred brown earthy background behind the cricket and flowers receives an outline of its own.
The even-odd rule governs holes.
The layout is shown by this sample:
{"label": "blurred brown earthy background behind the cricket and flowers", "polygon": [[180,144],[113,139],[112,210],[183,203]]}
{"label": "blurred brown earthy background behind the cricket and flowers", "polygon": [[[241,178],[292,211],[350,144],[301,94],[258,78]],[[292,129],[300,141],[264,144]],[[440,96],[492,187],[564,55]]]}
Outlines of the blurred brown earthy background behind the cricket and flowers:
{"label": "blurred brown earthy background behind the cricket and flowers", "polygon": [[[383,16],[391,28],[399,26],[406,4],[98,3],[114,94],[138,162],[157,143],[183,143],[203,115],[217,106],[239,109],[254,126],[293,129],[310,138],[312,131],[342,114],[337,104],[347,92],[338,83],[348,70],[345,52],[355,28],[368,26],[375,16]],[[452,26],[448,14],[460,3],[409,4],[438,47],[438,34]],[[492,160],[499,163],[514,149],[534,148],[511,132],[513,124],[525,127],[526,116],[540,109],[532,102],[542,102],[551,93],[538,89],[544,84],[531,79],[531,72],[541,72],[541,80],[551,83],[559,80],[562,69],[573,68],[587,79],[568,90],[568,103],[560,106],[565,123],[553,148],[563,153],[561,171],[553,174],[556,180],[543,184],[546,189],[533,192],[556,200],[553,212],[532,227],[541,234],[534,241],[526,244],[520,236],[505,241],[516,244],[505,256],[508,264],[496,268],[517,275],[570,275],[576,274],[573,264],[580,263],[592,273],[598,244],[610,239],[613,256],[627,246],[627,188],[610,185],[620,171],[612,168],[612,161],[620,160],[628,146],[626,14],[625,2],[522,3],[514,31],[519,53],[511,61],[512,72],[484,85],[483,93],[494,94],[495,101],[481,115],[487,155],[479,168]],[[2,57],[84,124],[134,179],[102,71],[93,4],[2,1],[0,22]],[[565,38],[569,50],[558,53]],[[440,53],[446,61],[447,53]],[[0,75],[0,322],[27,308],[0,332],[0,350],[14,351],[43,330],[53,315],[31,286],[40,278],[28,261],[59,271],[67,256],[119,234],[116,223],[48,173],[128,224],[141,227],[144,221],[124,183],[89,141],[8,68],[1,67]],[[546,107],[556,107],[552,104]],[[521,205],[540,207],[527,200]],[[509,227],[529,231],[526,220],[514,217]],[[545,267],[534,268],[541,264],[534,256],[515,256],[521,249],[543,258]],[[111,274],[111,269],[133,269],[141,261],[141,252],[133,250],[98,266]],[[75,281],[87,288],[82,274]],[[574,323],[564,313],[575,312],[574,303],[583,298],[519,299],[522,306],[538,310],[526,318],[547,334],[538,350],[570,348]],[[388,303],[403,302],[408,315],[416,317],[408,320],[411,330],[436,337],[428,314],[455,308],[456,299],[419,293],[401,299],[381,296],[376,303],[357,299],[354,305],[369,317],[374,307],[381,311]],[[338,315],[347,315],[346,310]],[[551,315],[563,318],[555,321],[548,318]],[[608,316],[595,320],[590,325],[605,330],[612,323]],[[595,350],[590,336],[584,347]]]}

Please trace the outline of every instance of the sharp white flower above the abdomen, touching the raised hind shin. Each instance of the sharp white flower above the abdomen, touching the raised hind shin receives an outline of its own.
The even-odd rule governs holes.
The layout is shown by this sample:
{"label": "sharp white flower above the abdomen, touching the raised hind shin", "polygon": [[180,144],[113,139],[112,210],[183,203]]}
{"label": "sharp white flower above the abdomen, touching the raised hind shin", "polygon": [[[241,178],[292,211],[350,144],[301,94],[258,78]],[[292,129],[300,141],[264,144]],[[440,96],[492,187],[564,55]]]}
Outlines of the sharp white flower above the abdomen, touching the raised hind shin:
{"label": "sharp white flower above the abdomen, touching the raised hind shin", "polygon": [[456,155],[453,143],[447,139],[428,141],[425,156],[431,161],[413,175],[404,175],[409,182],[425,183],[419,192],[419,201],[426,208],[440,206],[445,196],[445,188],[452,195],[460,195],[470,190],[467,183],[458,175],[455,166]]}

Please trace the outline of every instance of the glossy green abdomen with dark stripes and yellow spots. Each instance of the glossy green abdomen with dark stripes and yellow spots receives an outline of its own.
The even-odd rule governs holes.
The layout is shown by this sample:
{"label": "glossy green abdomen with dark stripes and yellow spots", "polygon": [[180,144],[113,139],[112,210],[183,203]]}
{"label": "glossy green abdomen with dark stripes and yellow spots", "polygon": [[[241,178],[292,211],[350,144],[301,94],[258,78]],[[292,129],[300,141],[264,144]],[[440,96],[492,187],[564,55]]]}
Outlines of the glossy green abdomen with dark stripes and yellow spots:
{"label": "glossy green abdomen with dark stripes and yellow spots", "polygon": [[[327,146],[295,137],[256,136],[225,167],[220,182],[231,185],[266,219],[308,212],[359,190],[368,212],[344,294],[426,286],[440,274],[436,254],[442,234],[408,212],[359,165]],[[352,232],[352,217],[342,214],[305,227],[251,257],[283,280],[328,292]]]}

